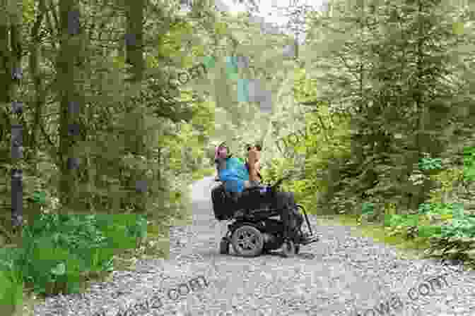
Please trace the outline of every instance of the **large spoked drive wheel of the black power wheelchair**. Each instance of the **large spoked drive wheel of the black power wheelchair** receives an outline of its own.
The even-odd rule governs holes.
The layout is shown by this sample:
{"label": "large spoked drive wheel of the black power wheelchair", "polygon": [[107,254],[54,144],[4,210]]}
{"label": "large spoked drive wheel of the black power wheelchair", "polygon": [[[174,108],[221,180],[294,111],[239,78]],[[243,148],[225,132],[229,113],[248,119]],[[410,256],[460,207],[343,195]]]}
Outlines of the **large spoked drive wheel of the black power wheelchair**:
{"label": "large spoked drive wheel of the black power wheelchair", "polygon": [[254,226],[243,225],[233,232],[231,245],[237,255],[257,257],[264,248],[264,236]]}

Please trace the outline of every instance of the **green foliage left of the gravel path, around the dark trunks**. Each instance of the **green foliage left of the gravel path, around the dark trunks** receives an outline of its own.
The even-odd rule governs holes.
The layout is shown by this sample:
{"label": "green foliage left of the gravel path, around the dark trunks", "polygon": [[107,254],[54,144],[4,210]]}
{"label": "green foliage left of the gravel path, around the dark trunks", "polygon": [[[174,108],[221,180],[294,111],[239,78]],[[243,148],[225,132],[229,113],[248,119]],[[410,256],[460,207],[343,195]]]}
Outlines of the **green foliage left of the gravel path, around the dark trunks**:
{"label": "green foliage left of the gravel path, around the dark trunks", "polygon": [[[139,242],[148,237],[145,219],[154,221],[153,226],[162,233],[163,223],[184,216],[189,208],[185,195],[188,184],[194,181],[192,175],[211,162],[206,151],[216,133],[216,104],[245,112],[228,100],[226,104],[213,100],[223,92],[214,90],[213,84],[195,80],[188,89],[175,87],[169,80],[173,73],[228,44],[232,28],[213,8],[199,10],[204,16],[198,18],[183,17],[175,8],[164,10],[160,4],[147,2],[144,23],[150,28],[143,30],[142,43],[146,67],[143,81],[134,85],[125,80],[131,72],[129,56],[124,56],[119,37],[127,31],[128,21],[123,18],[127,14],[116,12],[120,6],[81,6],[80,19],[85,22],[81,26],[87,30],[79,42],[73,41],[78,44],[74,53],[81,49],[81,56],[73,56],[64,54],[71,41],[58,37],[61,25],[57,25],[54,12],[60,11],[59,4],[61,1],[56,1],[51,8],[42,8],[33,0],[24,0],[20,39],[26,47],[23,53],[28,54],[20,86],[20,97],[25,101],[22,121],[28,126],[23,126],[25,159],[19,164],[28,221],[23,229],[23,248],[13,261],[15,271],[24,274],[20,279],[39,293],[78,291],[85,277],[107,272],[112,263],[117,264],[112,260],[117,253],[139,251]],[[242,30],[242,35],[247,37],[247,30]],[[184,43],[187,49],[183,49]],[[273,49],[267,42],[261,44]],[[245,51],[247,47],[239,49]],[[254,49],[255,56],[262,51]],[[74,63],[74,71],[63,71],[66,63],[50,62],[57,56]],[[75,57],[78,59],[72,62]],[[259,58],[257,61],[261,63]],[[277,63],[276,67],[281,66]],[[80,104],[79,113],[73,117],[63,115],[71,114],[62,97],[64,90],[74,92]],[[10,105],[2,106],[8,109]],[[71,123],[69,119],[81,126],[81,135],[74,143],[63,133]],[[8,111],[0,118],[2,221],[11,215],[8,181],[14,164],[9,159],[10,126],[15,120]],[[71,152],[64,152],[65,147]],[[64,159],[71,155],[80,159],[77,172],[70,173],[64,167]],[[148,183],[146,193],[135,192],[138,178]],[[94,215],[66,215],[71,209]],[[117,215],[111,219],[123,212],[141,217]],[[0,229],[3,234],[6,224]],[[162,246],[168,251],[169,245]],[[16,289],[11,289],[11,296],[1,296],[1,302],[16,301]]]}

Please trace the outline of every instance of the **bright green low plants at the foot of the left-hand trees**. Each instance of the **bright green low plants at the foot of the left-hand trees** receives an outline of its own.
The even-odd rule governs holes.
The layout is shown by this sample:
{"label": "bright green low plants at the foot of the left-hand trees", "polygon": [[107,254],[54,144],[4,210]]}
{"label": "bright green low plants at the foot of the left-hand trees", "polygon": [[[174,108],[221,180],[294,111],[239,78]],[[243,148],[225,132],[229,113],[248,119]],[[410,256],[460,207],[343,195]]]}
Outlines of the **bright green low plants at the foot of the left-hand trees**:
{"label": "bright green low plants at the foot of the left-hand trees", "polygon": [[2,271],[21,276],[37,293],[78,293],[84,276],[112,271],[113,256],[136,248],[146,232],[146,219],[136,214],[42,213],[23,227],[22,248],[0,254]]}

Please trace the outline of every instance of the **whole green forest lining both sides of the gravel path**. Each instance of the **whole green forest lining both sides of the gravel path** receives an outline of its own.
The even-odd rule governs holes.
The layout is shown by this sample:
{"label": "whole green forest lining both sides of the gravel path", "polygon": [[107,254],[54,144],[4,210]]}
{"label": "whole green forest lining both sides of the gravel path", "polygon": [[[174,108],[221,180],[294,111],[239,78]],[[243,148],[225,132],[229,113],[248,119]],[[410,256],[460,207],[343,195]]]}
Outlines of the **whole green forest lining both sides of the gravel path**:
{"label": "whole green forest lining both sides of the gravel path", "polygon": [[11,315],[30,293],[77,293],[134,257],[166,257],[223,140],[238,156],[262,143],[266,182],[294,171],[285,188],[312,214],[474,262],[474,4],[289,6],[302,39],[253,1],[233,15],[211,2],[2,1]]}

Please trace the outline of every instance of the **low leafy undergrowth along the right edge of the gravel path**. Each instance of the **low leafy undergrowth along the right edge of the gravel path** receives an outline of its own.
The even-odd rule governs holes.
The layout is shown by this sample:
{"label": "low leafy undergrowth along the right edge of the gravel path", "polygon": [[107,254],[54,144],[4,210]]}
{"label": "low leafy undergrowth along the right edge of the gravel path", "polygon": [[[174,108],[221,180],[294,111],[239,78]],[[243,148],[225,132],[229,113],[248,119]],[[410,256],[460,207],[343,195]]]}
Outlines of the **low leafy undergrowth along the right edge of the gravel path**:
{"label": "low leafy undergrowth along the right edge of the gravel path", "polygon": [[[460,260],[467,269],[474,269],[475,214],[465,211],[463,203],[440,202],[441,195],[452,193],[457,184],[467,188],[475,180],[475,149],[466,148],[464,154],[463,171],[445,169],[431,177],[440,183],[440,188],[433,190],[430,200],[420,204],[416,212],[396,209],[394,203],[387,203],[381,223],[377,221],[375,205],[363,202],[360,215],[341,214],[333,218],[341,224],[358,226],[364,236],[375,241],[414,250],[409,253],[416,257]],[[441,159],[423,159],[420,167],[442,169]],[[315,208],[313,211],[318,213]]]}

